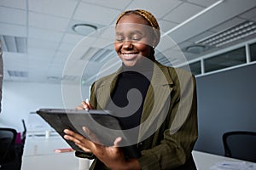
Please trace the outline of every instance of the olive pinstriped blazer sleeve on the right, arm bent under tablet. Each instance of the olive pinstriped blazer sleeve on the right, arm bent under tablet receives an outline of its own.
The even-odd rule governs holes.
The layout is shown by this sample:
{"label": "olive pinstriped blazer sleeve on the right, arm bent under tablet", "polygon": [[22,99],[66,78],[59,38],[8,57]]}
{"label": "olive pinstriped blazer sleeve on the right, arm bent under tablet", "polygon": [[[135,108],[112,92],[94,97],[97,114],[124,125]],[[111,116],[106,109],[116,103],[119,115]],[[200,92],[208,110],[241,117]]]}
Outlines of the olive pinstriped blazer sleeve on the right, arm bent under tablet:
{"label": "olive pinstriped blazer sleeve on the right, arm bent under tablet", "polygon": [[[176,169],[190,162],[191,159],[194,163],[191,152],[198,137],[195,77],[193,76],[190,81],[185,81],[186,83],[183,84],[183,88],[188,89],[192,84],[192,98],[189,97],[186,90],[181,93],[181,85],[177,83],[178,80],[174,79],[174,82],[171,105],[166,121],[163,127],[160,127],[149,139],[150,142],[147,142],[146,139],[143,144],[143,148],[147,149],[142,150],[142,156],[138,158],[142,170]],[[191,99],[191,102],[186,101]],[[188,103],[191,105],[187,105]],[[183,109],[187,107],[189,109]],[[171,129],[173,120],[177,114],[180,114],[180,111],[188,111],[185,114],[187,117],[182,126],[173,133]]]}

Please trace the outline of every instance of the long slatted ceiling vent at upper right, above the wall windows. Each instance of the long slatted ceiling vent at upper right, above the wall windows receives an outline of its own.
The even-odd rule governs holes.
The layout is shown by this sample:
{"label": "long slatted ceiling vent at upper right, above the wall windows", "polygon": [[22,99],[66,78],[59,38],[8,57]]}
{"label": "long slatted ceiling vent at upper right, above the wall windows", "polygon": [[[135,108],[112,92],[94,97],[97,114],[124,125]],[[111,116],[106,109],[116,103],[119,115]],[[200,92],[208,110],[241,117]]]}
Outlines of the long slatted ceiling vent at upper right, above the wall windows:
{"label": "long slatted ceiling vent at upper right, above the wall windows", "polygon": [[239,25],[219,31],[210,37],[203,38],[195,43],[204,46],[220,47],[227,43],[234,42],[243,37],[248,37],[256,33],[256,23],[250,20]]}

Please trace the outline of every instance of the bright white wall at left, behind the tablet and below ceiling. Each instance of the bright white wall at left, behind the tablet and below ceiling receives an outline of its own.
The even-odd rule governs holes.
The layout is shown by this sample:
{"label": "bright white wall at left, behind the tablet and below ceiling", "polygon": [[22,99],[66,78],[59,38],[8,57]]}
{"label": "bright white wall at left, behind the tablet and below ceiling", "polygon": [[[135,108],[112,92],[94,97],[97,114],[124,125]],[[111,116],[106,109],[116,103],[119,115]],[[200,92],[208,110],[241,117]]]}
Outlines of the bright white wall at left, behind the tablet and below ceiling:
{"label": "bright white wall at left, behind the tablet and below ceiling", "polygon": [[[88,87],[83,88],[83,96],[88,96]],[[79,88],[80,90],[80,88]],[[75,107],[81,99],[74,97],[77,87],[69,85],[68,107]],[[0,127],[13,127],[18,132],[23,131],[21,119],[27,121],[30,112],[40,108],[63,108],[61,84],[36,82],[3,82],[2,112],[0,113]],[[67,108],[67,107],[66,107]]]}

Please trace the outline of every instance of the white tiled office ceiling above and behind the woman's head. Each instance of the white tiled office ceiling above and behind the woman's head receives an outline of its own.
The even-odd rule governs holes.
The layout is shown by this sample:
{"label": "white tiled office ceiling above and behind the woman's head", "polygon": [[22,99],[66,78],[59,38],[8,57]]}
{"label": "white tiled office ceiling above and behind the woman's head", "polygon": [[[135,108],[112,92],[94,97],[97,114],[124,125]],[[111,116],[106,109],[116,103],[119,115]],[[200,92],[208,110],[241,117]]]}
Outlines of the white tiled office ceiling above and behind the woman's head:
{"label": "white tiled office ceiling above and behind the woman's head", "polygon": [[[194,46],[202,38],[247,20],[256,21],[255,0],[1,0],[3,80],[60,83],[66,79],[90,84],[102,65],[118,61],[111,60],[116,57],[110,48],[113,44],[103,49],[95,47],[90,36],[84,38],[86,36],[73,31],[73,26],[92,25],[98,31],[113,27],[122,11],[135,8],[151,11],[159,20],[163,37],[170,37],[177,43],[187,60],[230,45],[202,50],[201,46]],[[77,28],[79,30],[81,27]],[[107,35],[109,38],[113,36],[111,33]],[[255,34],[236,42],[253,37]],[[83,43],[80,42],[82,39]],[[174,49],[173,44],[169,45],[170,40],[163,40],[160,48],[157,48],[158,54],[174,56],[177,47]],[[92,54],[98,52],[98,58],[88,61],[89,52],[91,59]],[[70,54],[72,59],[68,58]],[[105,56],[105,60],[100,59],[102,56]],[[67,61],[69,64],[65,67]],[[178,57],[173,57],[172,64],[179,62]],[[68,71],[65,70],[67,67]]]}

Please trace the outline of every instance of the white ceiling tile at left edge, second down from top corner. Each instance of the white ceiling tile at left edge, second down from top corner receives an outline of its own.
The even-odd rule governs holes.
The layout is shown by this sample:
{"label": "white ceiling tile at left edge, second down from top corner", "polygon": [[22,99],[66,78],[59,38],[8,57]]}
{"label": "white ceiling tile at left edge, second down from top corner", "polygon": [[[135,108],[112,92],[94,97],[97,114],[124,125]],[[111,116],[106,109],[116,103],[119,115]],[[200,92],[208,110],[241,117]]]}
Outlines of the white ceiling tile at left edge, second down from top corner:
{"label": "white ceiling tile at left edge, second down from top corner", "polygon": [[0,7],[0,22],[26,26],[26,11]]}

